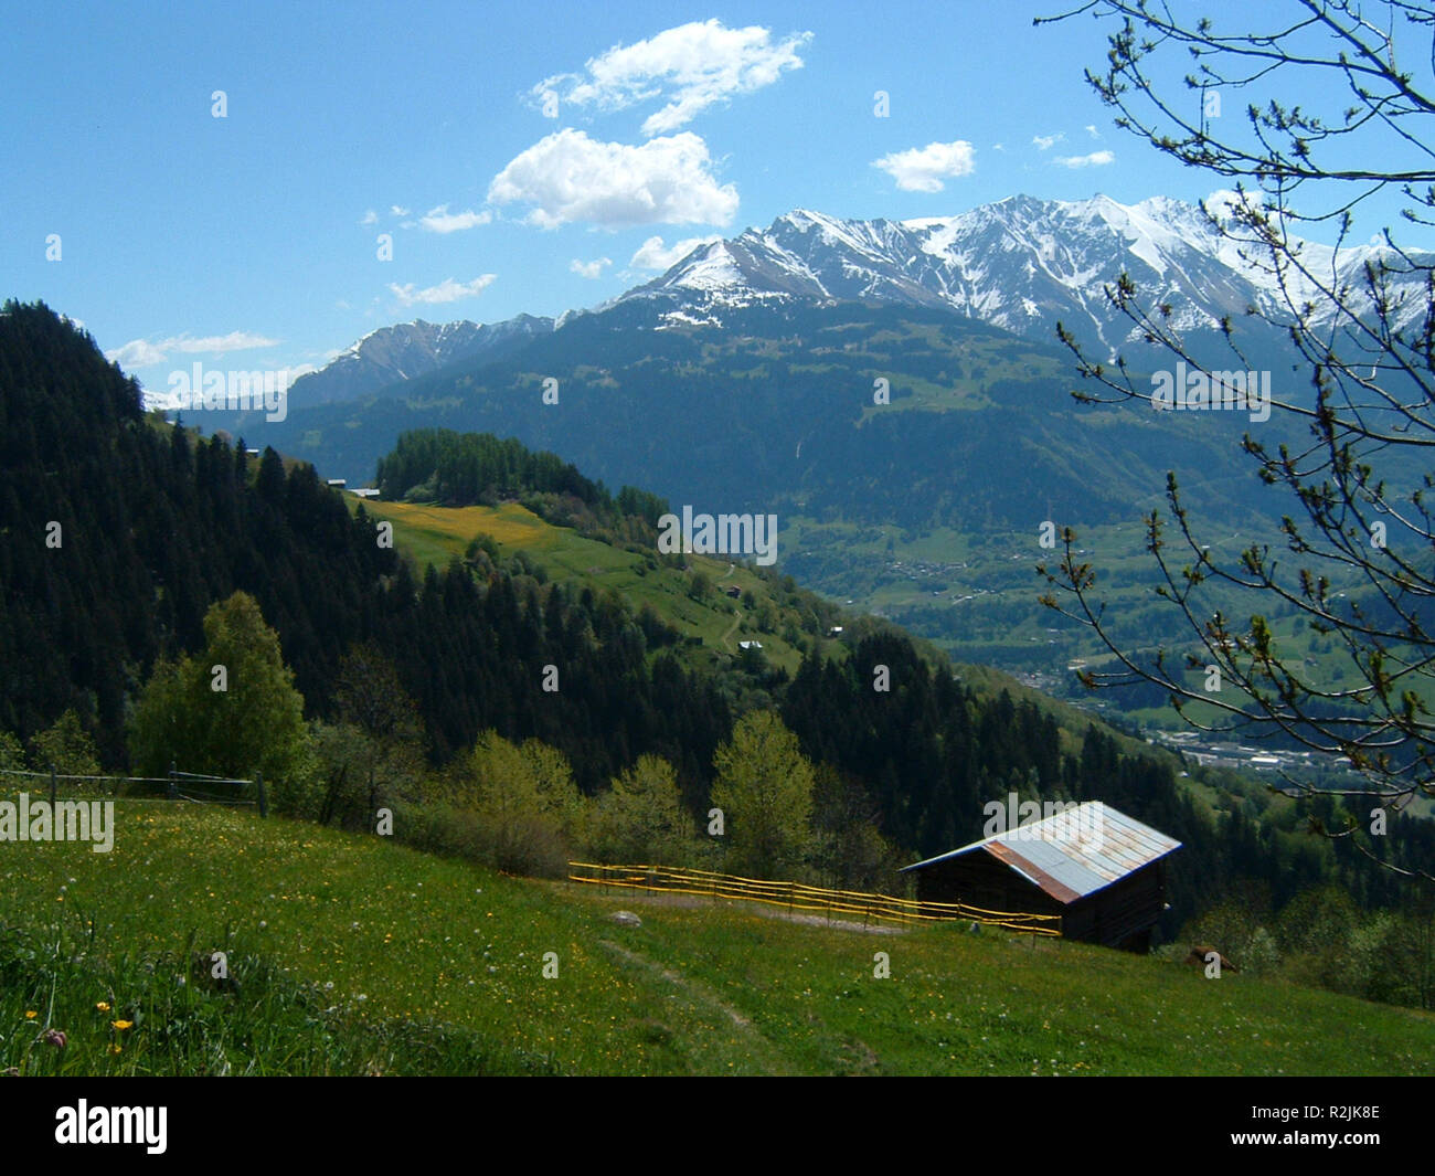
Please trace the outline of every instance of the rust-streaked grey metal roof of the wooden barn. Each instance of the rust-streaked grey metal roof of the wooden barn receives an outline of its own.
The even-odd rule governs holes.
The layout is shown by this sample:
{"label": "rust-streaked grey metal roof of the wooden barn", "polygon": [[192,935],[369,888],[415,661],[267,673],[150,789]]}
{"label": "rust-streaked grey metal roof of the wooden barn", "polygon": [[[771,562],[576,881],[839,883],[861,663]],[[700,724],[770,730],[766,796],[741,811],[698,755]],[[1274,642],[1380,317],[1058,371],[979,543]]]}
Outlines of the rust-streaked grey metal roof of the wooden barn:
{"label": "rust-streaked grey metal roof of the wooden barn", "polygon": [[1099,800],[1088,800],[1063,813],[917,862],[903,873],[980,850],[1006,863],[1058,902],[1072,903],[1178,849],[1180,841],[1151,826]]}

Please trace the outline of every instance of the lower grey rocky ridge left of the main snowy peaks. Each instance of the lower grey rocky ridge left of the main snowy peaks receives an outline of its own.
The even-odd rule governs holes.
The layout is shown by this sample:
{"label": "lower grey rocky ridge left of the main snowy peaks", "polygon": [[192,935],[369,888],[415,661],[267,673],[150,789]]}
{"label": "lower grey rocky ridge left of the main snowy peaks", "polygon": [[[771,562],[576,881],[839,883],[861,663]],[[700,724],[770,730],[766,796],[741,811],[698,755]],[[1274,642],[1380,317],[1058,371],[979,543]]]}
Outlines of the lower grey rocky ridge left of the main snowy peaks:
{"label": "lower grey rocky ridge left of the main snowy peaks", "polygon": [[397,323],[380,327],[340,352],[317,372],[294,381],[296,405],[347,401],[399,381],[423,376],[458,360],[498,359],[538,335],[554,320],[519,314],[501,323]]}

